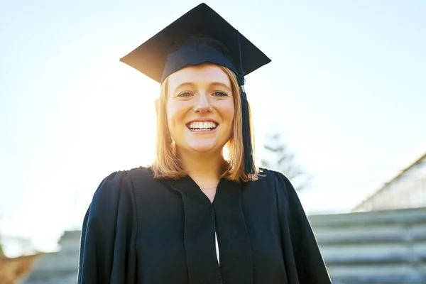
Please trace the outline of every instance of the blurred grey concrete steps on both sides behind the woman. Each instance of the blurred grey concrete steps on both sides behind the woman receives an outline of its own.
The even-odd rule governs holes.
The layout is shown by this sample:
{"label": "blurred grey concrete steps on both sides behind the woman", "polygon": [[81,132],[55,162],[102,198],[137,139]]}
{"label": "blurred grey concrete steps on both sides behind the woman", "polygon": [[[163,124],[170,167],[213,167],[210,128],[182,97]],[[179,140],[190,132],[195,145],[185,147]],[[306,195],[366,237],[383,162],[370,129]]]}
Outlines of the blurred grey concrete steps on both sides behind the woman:
{"label": "blurred grey concrete steps on both sides behind the woman", "polygon": [[[316,215],[310,222],[334,284],[425,284],[426,207]],[[80,231],[43,257],[25,284],[75,284]]]}

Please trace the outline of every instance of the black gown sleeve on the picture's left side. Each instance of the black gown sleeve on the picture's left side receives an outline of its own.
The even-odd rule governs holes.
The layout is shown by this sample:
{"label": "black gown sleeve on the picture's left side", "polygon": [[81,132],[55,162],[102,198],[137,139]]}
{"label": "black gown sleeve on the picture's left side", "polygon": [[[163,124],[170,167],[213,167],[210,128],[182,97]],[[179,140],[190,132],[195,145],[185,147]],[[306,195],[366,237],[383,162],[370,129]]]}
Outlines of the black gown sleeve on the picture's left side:
{"label": "black gown sleeve on the picture's left side", "polygon": [[79,284],[134,283],[136,204],[127,172],[105,178],[84,216]]}

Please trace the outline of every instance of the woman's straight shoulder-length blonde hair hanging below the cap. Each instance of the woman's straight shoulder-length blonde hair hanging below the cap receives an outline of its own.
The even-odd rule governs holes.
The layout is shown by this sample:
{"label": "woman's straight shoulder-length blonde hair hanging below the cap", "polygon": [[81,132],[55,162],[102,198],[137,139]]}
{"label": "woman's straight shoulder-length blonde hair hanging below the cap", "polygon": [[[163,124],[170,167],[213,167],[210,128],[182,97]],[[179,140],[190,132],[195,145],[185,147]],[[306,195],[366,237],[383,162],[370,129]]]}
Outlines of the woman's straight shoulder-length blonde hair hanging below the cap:
{"label": "woman's straight shoulder-length blonde hair hanging below the cap", "polygon": [[[244,146],[242,131],[242,111],[241,111],[241,89],[239,87],[236,75],[226,67],[219,66],[228,75],[231,80],[232,93],[234,94],[234,127],[229,141],[224,147],[227,148],[227,157],[224,157],[227,165],[221,178],[234,180],[236,182],[248,182],[257,180],[258,168],[254,175],[244,173]],[[155,101],[155,110],[157,114],[157,137],[155,143],[155,160],[151,165],[154,178],[182,178],[187,173],[179,165],[179,159],[176,155],[176,147],[173,138],[170,136],[167,123],[167,89],[168,78],[160,86],[160,97]],[[249,118],[251,128],[251,144],[254,155],[254,135],[253,123],[251,120],[251,111],[249,105]],[[223,151],[222,151],[223,155]]]}

